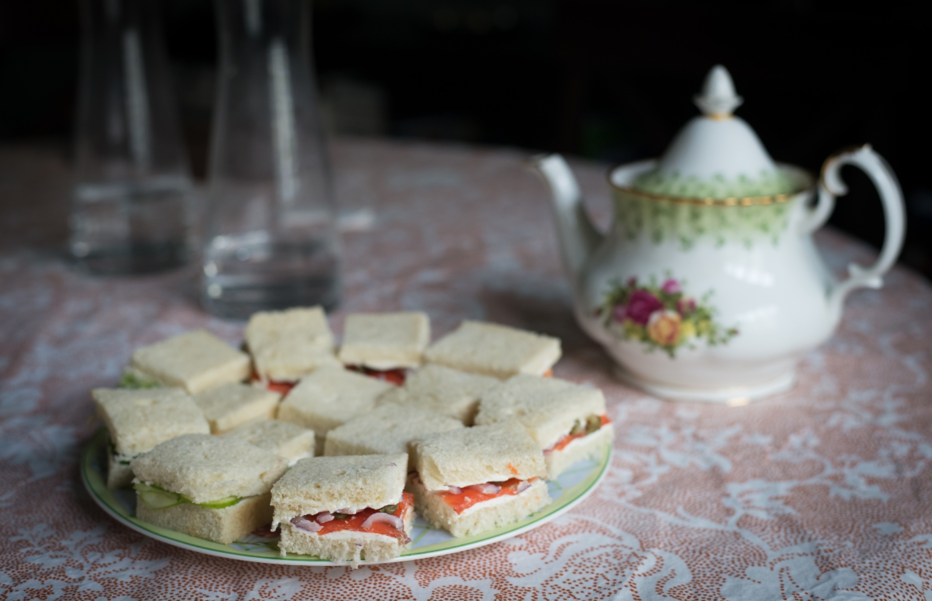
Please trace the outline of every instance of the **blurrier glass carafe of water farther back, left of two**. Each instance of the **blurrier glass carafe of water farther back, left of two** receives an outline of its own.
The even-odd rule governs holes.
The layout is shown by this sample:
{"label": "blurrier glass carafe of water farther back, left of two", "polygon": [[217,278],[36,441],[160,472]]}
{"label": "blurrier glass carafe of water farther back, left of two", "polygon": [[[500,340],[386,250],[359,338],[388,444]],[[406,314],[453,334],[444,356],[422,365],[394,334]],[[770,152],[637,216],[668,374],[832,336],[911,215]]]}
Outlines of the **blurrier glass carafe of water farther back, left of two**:
{"label": "blurrier glass carafe of water farther back, left of two", "polygon": [[69,250],[99,273],[185,262],[194,198],[157,0],[83,0]]}

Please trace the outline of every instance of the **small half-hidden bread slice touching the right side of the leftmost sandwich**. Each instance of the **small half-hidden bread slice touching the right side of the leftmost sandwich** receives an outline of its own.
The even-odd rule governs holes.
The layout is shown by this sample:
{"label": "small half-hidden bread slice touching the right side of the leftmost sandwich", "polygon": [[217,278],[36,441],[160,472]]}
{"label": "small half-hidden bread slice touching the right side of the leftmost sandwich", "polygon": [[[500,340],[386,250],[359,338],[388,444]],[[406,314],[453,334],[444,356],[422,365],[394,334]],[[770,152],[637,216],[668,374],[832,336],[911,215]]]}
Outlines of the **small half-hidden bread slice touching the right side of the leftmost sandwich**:
{"label": "small half-hidden bread slice touching the right side of the leftmost sandwich", "polygon": [[269,389],[233,382],[194,395],[214,434],[233,430],[251,419],[271,419],[279,409],[281,394]]}

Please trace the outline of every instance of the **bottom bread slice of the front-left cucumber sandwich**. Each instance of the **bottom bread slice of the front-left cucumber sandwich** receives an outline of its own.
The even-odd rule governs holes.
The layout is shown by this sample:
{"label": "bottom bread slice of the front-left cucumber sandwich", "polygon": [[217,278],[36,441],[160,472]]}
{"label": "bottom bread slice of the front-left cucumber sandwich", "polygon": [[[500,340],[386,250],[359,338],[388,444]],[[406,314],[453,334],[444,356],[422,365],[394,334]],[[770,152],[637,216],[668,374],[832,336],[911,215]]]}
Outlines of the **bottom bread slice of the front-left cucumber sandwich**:
{"label": "bottom bread slice of the front-left cucumber sandwich", "polygon": [[270,498],[269,493],[256,495],[223,509],[191,503],[151,509],[136,493],[136,519],[228,545],[272,521],[272,506],[268,502]]}

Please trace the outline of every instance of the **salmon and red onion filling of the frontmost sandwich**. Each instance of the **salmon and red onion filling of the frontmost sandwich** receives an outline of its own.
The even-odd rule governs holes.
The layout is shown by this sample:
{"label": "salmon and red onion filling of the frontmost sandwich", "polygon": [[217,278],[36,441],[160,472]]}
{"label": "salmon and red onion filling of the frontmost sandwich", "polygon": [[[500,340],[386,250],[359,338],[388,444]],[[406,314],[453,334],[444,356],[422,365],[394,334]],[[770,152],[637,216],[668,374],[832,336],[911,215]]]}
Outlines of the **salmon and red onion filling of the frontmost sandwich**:
{"label": "salmon and red onion filling of the frontmost sandwich", "polygon": [[404,521],[411,507],[414,496],[402,493],[402,499],[395,505],[386,505],[378,509],[367,507],[358,512],[340,510],[339,512],[320,512],[299,515],[292,518],[292,526],[312,534],[330,534],[332,532],[361,532],[363,534],[381,534],[387,537],[409,540],[404,532]]}

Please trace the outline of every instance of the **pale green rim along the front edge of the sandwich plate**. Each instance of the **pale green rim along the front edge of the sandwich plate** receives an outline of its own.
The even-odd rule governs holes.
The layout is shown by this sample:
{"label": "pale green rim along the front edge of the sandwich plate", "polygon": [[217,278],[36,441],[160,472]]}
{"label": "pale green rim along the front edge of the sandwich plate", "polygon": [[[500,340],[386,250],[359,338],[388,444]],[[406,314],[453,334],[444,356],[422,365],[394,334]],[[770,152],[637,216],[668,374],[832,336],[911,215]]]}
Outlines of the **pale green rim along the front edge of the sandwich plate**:
{"label": "pale green rim along the front edge of the sandwich plate", "polygon": [[[167,542],[177,547],[199,553],[229,557],[231,559],[284,565],[306,564],[312,566],[346,566],[349,563],[335,562],[295,553],[288,553],[282,556],[277,549],[271,549],[269,546],[263,546],[259,543],[250,544],[254,544],[256,547],[260,548],[243,551],[230,545],[199,539],[183,532],[169,530],[136,519],[133,515],[130,515],[130,512],[128,512],[123,504],[116,498],[113,491],[107,488],[102,471],[96,469],[94,466],[94,459],[101,456],[103,449],[106,448],[108,440],[109,436],[107,431],[103,428],[98,430],[90,438],[81,456],[81,478],[91,498],[94,499],[105,512],[109,513],[121,524],[130,526],[130,528],[146,536]],[[596,465],[590,469],[589,473],[586,474],[582,481],[575,485],[562,488],[561,494],[557,499],[554,499],[549,505],[543,507],[538,512],[532,513],[523,520],[507,526],[486,530],[485,532],[473,536],[445,540],[424,547],[408,548],[400,556],[386,562],[366,562],[363,560],[359,562],[359,564],[391,563],[409,559],[423,559],[426,557],[444,555],[446,553],[458,553],[460,551],[467,551],[475,547],[498,542],[499,540],[509,539],[538,526],[542,526],[555,519],[561,513],[569,511],[570,508],[582,502],[583,499],[595,490],[596,485],[602,481],[608,471],[610,458],[611,445],[605,444]],[[562,475],[565,474],[561,474],[561,476]]]}

